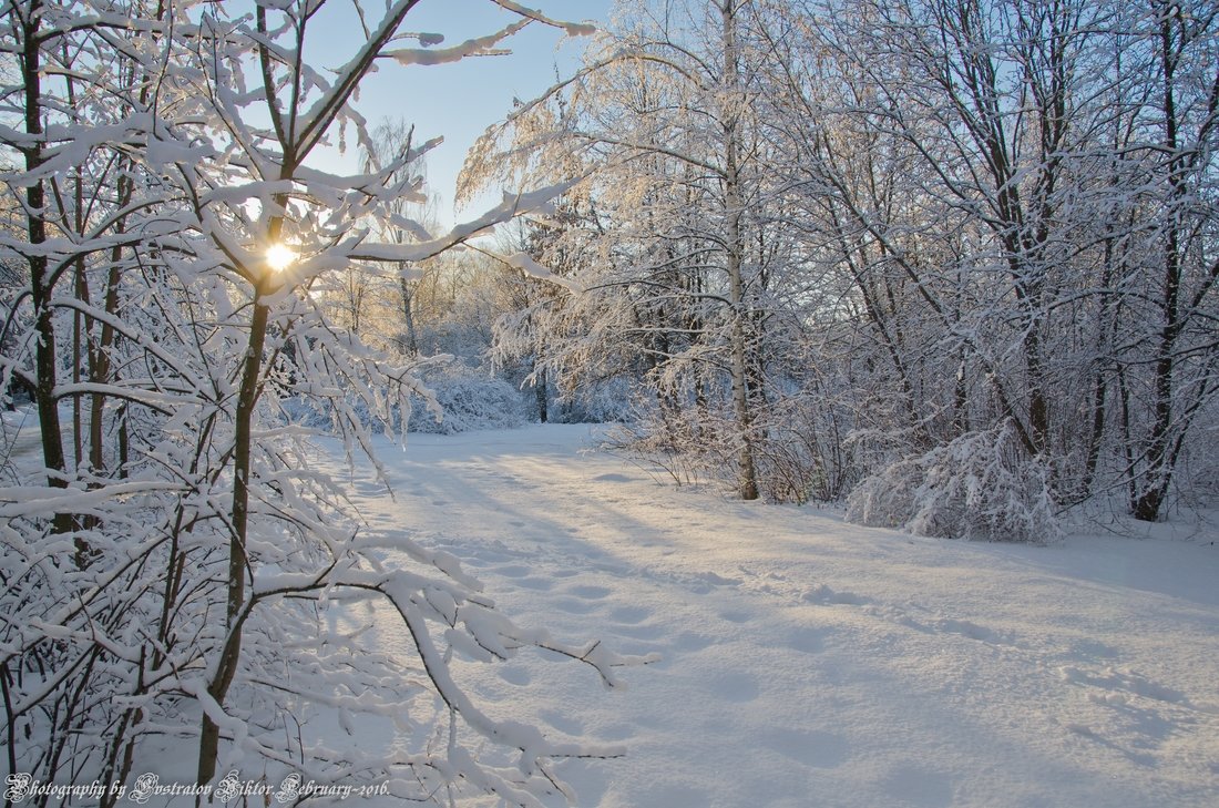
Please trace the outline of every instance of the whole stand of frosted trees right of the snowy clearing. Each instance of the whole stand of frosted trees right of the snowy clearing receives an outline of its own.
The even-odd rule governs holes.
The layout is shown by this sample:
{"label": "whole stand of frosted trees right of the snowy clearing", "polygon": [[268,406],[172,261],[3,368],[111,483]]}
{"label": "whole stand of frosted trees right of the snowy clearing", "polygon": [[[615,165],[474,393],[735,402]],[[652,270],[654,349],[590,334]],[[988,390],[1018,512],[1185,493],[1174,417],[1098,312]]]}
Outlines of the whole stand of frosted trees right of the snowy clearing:
{"label": "whole stand of frosted trees right of the snowy clearing", "polygon": [[635,445],[744,497],[837,497],[1002,434],[1058,503],[1162,517],[1219,414],[1217,24],[1158,0],[631,4],[501,138],[516,171],[590,173],[595,216],[552,240],[596,245],[566,305],[588,328],[556,323],[552,372],[634,375]]}

